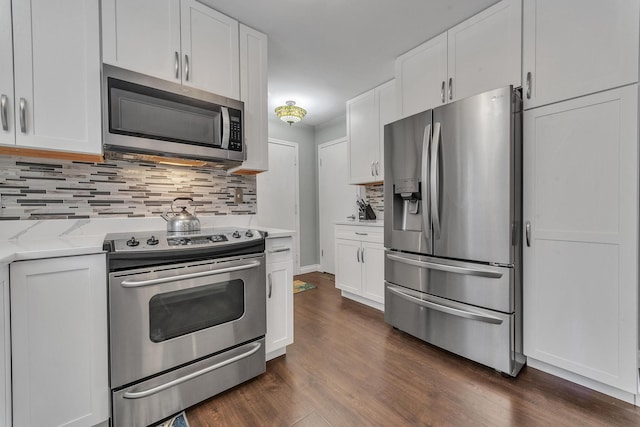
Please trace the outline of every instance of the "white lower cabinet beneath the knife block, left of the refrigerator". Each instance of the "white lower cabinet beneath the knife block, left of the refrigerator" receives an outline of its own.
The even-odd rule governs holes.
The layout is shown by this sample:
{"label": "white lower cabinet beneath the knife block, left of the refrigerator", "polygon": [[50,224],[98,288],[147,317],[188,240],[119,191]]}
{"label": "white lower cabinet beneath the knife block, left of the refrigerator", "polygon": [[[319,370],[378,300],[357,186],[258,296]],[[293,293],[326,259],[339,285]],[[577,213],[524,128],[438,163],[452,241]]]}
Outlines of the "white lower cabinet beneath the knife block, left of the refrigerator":
{"label": "white lower cabinet beneath the knife block, left of the refrigerator", "polygon": [[342,295],[384,308],[384,245],[381,227],[336,225],[336,288]]}

